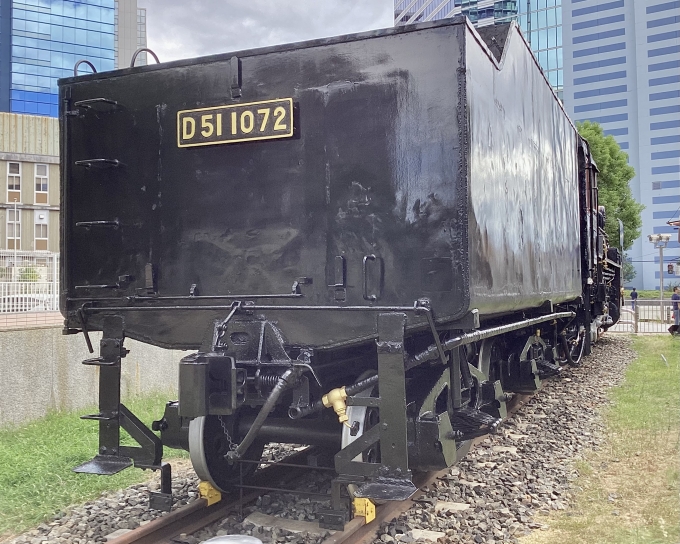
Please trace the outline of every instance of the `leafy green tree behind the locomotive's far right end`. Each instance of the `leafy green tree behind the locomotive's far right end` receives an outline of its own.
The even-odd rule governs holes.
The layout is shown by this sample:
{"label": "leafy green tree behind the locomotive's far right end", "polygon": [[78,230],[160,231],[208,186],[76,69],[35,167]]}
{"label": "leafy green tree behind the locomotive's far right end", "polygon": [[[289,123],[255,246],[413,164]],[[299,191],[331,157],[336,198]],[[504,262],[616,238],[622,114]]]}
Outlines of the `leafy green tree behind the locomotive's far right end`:
{"label": "leafy green tree behind the locomotive's far right end", "polygon": [[644,206],[633,199],[628,182],[635,170],[628,164],[628,154],[610,134],[605,136],[602,127],[593,121],[576,123],[579,134],[588,141],[590,152],[600,171],[598,175],[599,202],[605,207],[605,231],[613,245],[618,245],[619,224],[623,222],[623,250],[630,249],[640,237]]}

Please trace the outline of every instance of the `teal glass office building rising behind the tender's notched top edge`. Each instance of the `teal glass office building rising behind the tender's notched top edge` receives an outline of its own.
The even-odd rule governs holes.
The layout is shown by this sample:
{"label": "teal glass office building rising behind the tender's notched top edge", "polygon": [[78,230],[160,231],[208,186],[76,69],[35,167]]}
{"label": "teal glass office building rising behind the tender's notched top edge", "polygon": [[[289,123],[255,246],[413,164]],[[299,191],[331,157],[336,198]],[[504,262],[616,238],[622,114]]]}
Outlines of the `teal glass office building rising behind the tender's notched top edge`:
{"label": "teal glass office building rising behind the tender's notched top edge", "polygon": [[515,20],[562,98],[562,0],[395,0],[395,25],[466,15],[476,26]]}

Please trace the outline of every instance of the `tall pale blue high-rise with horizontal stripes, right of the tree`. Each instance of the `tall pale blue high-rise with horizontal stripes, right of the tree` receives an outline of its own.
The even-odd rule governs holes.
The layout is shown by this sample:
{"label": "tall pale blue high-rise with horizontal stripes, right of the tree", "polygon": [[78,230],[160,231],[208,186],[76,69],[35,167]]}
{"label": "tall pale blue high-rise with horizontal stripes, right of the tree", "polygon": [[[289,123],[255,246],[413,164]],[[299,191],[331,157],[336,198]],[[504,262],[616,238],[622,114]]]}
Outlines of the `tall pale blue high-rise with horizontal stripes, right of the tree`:
{"label": "tall pale blue high-rise with horizontal stripes, right of the tree", "polygon": [[[680,258],[667,224],[680,219],[680,1],[571,0],[563,27],[565,107],[574,120],[600,123],[628,153],[633,197],[646,206],[628,252],[631,285],[658,289],[659,254],[647,235],[670,233],[664,262]],[[680,282],[664,276],[665,285]]]}

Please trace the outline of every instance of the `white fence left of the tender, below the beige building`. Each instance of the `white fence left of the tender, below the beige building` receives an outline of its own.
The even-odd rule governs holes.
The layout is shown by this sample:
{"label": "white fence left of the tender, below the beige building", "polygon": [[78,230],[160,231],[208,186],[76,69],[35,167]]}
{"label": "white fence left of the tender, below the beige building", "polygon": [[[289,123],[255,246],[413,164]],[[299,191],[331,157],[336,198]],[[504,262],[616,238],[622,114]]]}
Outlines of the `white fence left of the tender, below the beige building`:
{"label": "white fence left of the tender, below the beige building", "polygon": [[59,254],[0,250],[0,314],[59,309]]}

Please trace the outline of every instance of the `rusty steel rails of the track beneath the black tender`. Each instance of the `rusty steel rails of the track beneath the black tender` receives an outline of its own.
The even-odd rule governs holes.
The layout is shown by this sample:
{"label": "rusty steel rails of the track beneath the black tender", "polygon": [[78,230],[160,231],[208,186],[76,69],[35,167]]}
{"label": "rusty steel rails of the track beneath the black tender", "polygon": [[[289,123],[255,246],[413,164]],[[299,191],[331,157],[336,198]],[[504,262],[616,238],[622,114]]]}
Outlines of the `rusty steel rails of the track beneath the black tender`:
{"label": "rusty steel rails of the track beneath the black tender", "polygon": [[[515,413],[532,396],[515,395],[508,403],[508,416]],[[484,437],[473,441],[472,447],[482,440],[484,440]],[[254,502],[261,496],[263,491],[300,493],[293,489],[272,488],[269,484],[274,480],[278,481],[280,485],[292,483],[308,472],[310,468],[315,470],[332,470],[328,467],[312,467],[306,464],[308,457],[312,454],[313,448],[297,452],[286,457],[281,462],[273,463],[256,472],[250,481],[250,485],[243,486],[240,493],[223,495],[219,502],[213,504],[210,504],[209,499],[199,498],[144,526],[110,540],[109,544],[174,544],[177,542],[174,539],[179,535],[196,533],[208,525],[227,517],[229,514],[240,512],[244,506]],[[366,523],[366,518],[363,516],[355,516],[345,525],[344,531],[334,532],[324,540],[323,544],[368,544],[372,542],[375,539],[376,531],[382,523],[389,522],[406,512],[413,505],[414,501],[422,497],[424,494],[423,488],[432,485],[438,479],[445,478],[449,470],[447,468],[414,475],[413,483],[418,488],[418,491],[413,497],[405,501],[390,501],[376,506],[375,519],[370,523]]]}

